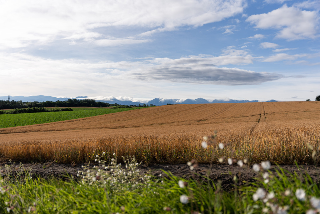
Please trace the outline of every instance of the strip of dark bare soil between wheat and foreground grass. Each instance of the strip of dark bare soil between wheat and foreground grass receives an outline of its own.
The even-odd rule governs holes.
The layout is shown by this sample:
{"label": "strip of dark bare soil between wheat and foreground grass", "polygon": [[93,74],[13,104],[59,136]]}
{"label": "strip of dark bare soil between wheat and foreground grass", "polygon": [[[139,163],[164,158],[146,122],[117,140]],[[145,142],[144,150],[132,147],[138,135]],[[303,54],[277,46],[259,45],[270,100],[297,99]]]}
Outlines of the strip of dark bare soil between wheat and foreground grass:
{"label": "strip of dark bare soil between wheat and foreground grass", "polygon": [[[0,168],[3,169],[4,165],[10,165],[10,162],[1,163]],[[41,163],[41,164],[24,164],[23,167],[25,169],[29,169],[33,176],[39,176],[45,179],[49,179],[52,177],[61,178],[63,180],[68,179],[69,176],[74,176],[76,178],[76,174],[78,170],[82,170],[83,164],[56,164],[56,163]],[[91,165],[92,167],[94,165]],[[19,165],[13,165],[14,169],[19,169]],[[299,167],[299,168],[298,168]],[[315,183],[320,183],[320,167],[314,165],[283,165],[282,169],[286,171],[286,173],[294,174],[297,173],[298,178],[301,181],[304,181],[305,178],[303,175],[308,173],[310,177],[313,179]],[[253,182],[255,178],[261,177],[261,173],[254,172],[252,168],[249,167],[239,167],[237,165],[229,166],[229,165],[212,165],[210,170],[209,164],[199,164],[198,167],[190,170],[190,167],[186,164],[177,164],[177,165],[151,165],[151,166],[139,166],[140,172],[142,174],[154,175],[156,177],[167,176],[165,172],[171,172],[172,175],[183,177],[186,179],[196,179],[196,180],[205,180],[210,171],[209,178],[214,182],[221,182],[221,186],[224,189],[231,188],[234,184],[233,178],[236,175],[238,178],[238,185],[243,184],[243,181]],[[277,166],[271,166],[270,169],[272,172],[276,172],[279,170]]]}

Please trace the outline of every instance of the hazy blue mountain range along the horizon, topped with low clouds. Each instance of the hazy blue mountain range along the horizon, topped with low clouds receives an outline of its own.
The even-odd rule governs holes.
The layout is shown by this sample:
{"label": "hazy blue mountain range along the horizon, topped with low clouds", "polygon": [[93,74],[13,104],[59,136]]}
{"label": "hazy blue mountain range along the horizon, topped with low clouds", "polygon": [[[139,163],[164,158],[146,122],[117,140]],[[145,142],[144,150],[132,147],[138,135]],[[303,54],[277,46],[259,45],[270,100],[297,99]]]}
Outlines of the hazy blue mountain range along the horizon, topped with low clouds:
{"label": "hazy blue mountain range along the horizon, topped with low clouds", "polygon": [[[52,97],[52,96],[43,96],[43,95],[38,95],[38,96],[29,96],[29,97],[24,97],[24,96],[12,96],[10,97],[10,100],[15,100],[19,101],[22,100],[22,102],[33,102],[33,101],[38,101],[38,102],[44,102],[44,101],[64,101],[72,98],[68,97]],[[125,98],[122,97],[87,97],[87,96],[79,96],[76,97],[76,99],[95,99],[100,102],[105,102],[105,103],[110,103],[110,104],[120,104],[120,105],[143,105],[143,104],[152,104],[156,106],[163,106],[167,104],[203,104],[203,103],[249,103],[249,102],[258,102],[258,100],[236,100],[236,99],[229,99],[229,100],[222,100],[222,99],[214,99],[212,101],[208,101],[204,98],[197,98],[197,99],[172,99],[172,98],[154,98],[152,100],[148,99],[143,99],[144,101],[142,102],[142,99],[133,99],[130,98],[131,100],[124,100]],[[121,99],[121,100],[119,100]],[[2,96],[0,97],[0,100],[8,100],[8,96]],[[138,101],[137,101],[138,100]],[[266,102],[277,102],[274,99],[268,100]]]}

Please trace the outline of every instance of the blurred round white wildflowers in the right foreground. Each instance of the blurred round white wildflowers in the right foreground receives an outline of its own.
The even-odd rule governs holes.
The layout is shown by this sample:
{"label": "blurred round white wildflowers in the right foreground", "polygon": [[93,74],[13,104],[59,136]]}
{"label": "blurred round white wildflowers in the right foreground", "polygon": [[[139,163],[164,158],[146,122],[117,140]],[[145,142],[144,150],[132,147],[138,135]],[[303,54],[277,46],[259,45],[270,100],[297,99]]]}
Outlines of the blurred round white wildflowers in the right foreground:
{"label": "blurred round white wildflowers in the right foreground", "polygon": [[[201,143],[201,146],[204,149],[207,149],[209,145],[215,144],[218,145],[216,147],[216,150],[219,148],[220,150],[223,150],[226,146],[229,144],[224,144],[224,143],[216,143],[215,142],[215,135],[212,136],[204,136],[203,137],[203,142]],[[314,148],[310,145],[307,144],[308,148],[312,150],[312,158],[316,158],[316,151]],[[233,152],[231,150],[230,156],[232,157]],[[219,153],[219,152],[218,152]],[[245,167],[250,166],[250,162],[248,158],[244,158],[243,160],[237,160],[236,158],[227,158],[225,156],[219,157],[218,161],[220,163],[224,163],[225,160],[227,160],[227,163],[232,166],[234,164],[237,164],[239,167]],[[317,160],[315,160],[317,162]],[[191,162],[188,162],[188,165],[190,166],[190,169],[193,169],[193,165],[191,163],[196,163],[196,160],[192,160]],[[197,165],[196,165],[197,166]],[[248,187],[249,189],[254,190],[255,192],[252,195],[253,201],[256,203],[261,203],[263,204],[262,208],[262,213],[272,213],[272,214],[286,214],[292,212],[298,211],[300,208],[295,208],[293,206],[294,200],[300,201],[300,202],[305,202],[305,206],[309,207],[310,209],[306,211],[307,214],[315,214],[315,213],[320,213],[320,199],[314,196],[307,197],[306,192],[302,188],[294,188],[293,186],[291,189],[286,189],[284,193],[279,193],[278,191],[275,190],[274,186],[276,184],[276,176],[271,173],[269,170],[271,168],[271,163],[270,161],[262,161],[260,164],[253,164],[252,165],[252,170],[254,172],[260,173],[260,178],[261,178],[261,186],[259,187],[256,186],[259,184],[259,181],[254,184],[256,187]],[[284,173],[284,172],[282,172]],[[280,174],[278,174],[280,175]],[[235,179],[234,179],[235,180]],[[258,179],[259,180],[259,179]],[[273,180],[273,182],[270,182]],[[184,182],[179,181],[179,186],[183,188],[186,186]],[[269,191],[268,191],[269,190]],[[290,203],[286,204],[284,201],[286,201],[283,197],[291,197],[289,200]],[[186,195],[181,195],[180,196],[180,201],[181,203],[188,203],[188,197]],[[254,209],[260,209],[259,206],[253,206],[252,208]]]}

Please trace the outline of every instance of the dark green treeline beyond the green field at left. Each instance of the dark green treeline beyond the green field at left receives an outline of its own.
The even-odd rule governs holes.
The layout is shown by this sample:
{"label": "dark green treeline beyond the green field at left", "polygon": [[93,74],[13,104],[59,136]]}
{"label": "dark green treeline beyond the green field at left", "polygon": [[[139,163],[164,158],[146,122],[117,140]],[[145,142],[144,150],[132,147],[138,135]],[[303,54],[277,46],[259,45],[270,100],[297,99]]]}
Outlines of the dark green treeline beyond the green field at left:
{"label": "dark green treeline beyond the green field at left", "polygon": [[[13,109],[13,108],[50,108],[50,107],[116,107],[116,108],[128,108],[128,107],[148,107],[149,105],[143,104],[137,105],[119,105],[117,103],[110,104],[94,99],[68,99],[64,101],[45,101],[45,102],[22,102],[19,101],[8,101],[0,100],[0,109]],[[121,107],[120,107],[121,106]],[[150,106],[155,106],[150,104]]]}

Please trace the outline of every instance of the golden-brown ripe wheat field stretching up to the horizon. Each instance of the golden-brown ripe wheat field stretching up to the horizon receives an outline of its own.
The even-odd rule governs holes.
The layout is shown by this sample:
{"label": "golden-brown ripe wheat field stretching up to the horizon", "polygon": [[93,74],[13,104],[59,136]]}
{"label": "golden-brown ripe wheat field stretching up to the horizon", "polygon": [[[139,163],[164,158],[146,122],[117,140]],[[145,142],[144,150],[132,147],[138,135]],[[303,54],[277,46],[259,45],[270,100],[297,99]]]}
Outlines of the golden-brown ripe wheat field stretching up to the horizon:
{"label": "golden-brown ripe wheat field stretching up to the horizon", "polygon": [[[107,160],[116,153],[145,164],[219,163],[219,157],[319,164],[319,119],[320,102],[167,105],[3,128],[0,155],[57,163],[84,163],[106,152]],[[203,136],[215,131],[214,141],[202,148]]]}

